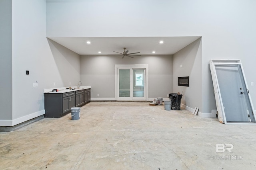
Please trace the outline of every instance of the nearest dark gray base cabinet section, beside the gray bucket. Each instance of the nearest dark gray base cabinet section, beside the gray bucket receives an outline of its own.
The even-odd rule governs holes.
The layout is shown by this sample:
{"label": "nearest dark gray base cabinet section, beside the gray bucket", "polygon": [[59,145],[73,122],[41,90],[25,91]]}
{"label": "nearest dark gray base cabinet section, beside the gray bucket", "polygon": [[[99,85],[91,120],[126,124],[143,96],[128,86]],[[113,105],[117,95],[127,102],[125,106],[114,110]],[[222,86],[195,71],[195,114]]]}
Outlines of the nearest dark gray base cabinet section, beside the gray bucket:
{"label": "nearest dark gray base cabinet section, beside the gray bucket", "polygon": [[75,92],[45,93],[44,94],[44,117],[61,117],[75,107]]}

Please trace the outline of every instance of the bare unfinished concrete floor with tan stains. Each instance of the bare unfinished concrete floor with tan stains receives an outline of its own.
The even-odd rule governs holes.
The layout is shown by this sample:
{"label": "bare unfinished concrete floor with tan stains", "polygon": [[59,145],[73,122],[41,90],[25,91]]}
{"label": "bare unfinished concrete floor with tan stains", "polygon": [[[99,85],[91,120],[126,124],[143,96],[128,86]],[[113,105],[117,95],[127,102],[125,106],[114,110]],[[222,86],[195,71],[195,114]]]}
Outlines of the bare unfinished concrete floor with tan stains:
{"label": "bare unfinished concrete floor with tan stains", "polygon": [[[71,113],[0,132],[0,169],[251,170],[256,126],[224,125],[188,110],[90,102]],[[232,153],[216,153],[232,144]]]}

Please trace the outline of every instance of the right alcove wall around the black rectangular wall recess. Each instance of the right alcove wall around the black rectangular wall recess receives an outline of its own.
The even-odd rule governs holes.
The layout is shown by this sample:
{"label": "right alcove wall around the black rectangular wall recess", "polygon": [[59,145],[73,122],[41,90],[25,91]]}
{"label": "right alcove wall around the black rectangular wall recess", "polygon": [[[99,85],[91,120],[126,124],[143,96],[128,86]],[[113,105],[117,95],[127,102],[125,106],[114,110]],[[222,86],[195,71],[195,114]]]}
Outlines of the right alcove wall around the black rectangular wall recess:
{"label": "right alcove wall around the black rectangular wall recess", "polygon": [[[201,40],[200,38],[194,41],[173,55],[173,92],[182,93],[181,103],[192,109],[194,107],[202,109]],[[189,76],[189,87],[178,86],[178,77],[186,76]]]}

